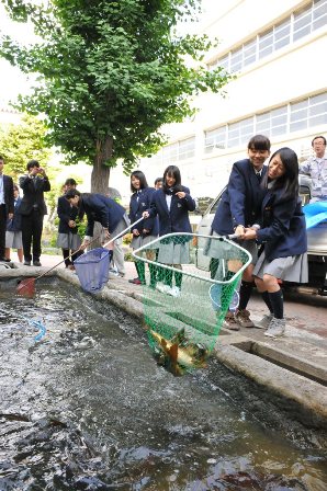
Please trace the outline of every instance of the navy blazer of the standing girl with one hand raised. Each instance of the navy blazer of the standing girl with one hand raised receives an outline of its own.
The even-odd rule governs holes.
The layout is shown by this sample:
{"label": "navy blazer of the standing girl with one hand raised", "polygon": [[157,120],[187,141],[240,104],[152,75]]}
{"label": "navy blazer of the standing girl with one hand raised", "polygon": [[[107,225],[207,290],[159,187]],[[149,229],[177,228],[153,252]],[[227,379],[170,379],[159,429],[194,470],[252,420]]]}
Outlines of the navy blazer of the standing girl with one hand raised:
{"label": "navy blazer of the standing girl with one hand raised", "polygon": [[189,212],[194,212],[195,201],[190,195],[189,187],[181,186],[181,191],[185,193],[185,197],[180,199],[176,194],[171,197],[170,210],[168,210],[166,202],[166,193],[157,190],[151,199],[150,217],[158,215],[159,217],[159,236],[172,232],[192,232]]}

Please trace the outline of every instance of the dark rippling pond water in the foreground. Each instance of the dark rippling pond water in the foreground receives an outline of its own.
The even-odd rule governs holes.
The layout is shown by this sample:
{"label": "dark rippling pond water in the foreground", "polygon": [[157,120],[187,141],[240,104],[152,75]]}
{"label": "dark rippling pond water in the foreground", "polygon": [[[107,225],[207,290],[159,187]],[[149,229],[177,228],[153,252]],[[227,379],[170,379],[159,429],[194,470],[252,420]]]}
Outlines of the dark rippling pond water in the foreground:
{"label": "dark rippling pond water in the foreground", "polygon": [[173,377],[136,320],[57,281],[14,292],[0,286],[1,491],[326,490],[322,432],[246,379],[214,361]]}

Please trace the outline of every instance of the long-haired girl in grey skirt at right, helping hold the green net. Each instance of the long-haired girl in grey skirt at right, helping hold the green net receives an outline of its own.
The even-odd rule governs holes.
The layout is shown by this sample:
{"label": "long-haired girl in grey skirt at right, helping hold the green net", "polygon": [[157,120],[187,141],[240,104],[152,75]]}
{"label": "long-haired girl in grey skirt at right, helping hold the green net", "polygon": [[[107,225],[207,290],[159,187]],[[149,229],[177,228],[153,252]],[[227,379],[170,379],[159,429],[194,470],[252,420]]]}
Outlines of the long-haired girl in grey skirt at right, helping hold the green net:
{"label": "long-haired girl in grey skirt at right, helping hold the green net", "polygon": [[307,283],[307,239],[305,217],[298,196],[298,162],[287,148],[275,151],[270,159],[263,185],[268,190],[261,206],[261,228],[246,229],[245,240],[257,239],[263,244],[253,276],[258,290],[269,308],[261,320],[269,336],[285,332],[283,294],[279,279]]}

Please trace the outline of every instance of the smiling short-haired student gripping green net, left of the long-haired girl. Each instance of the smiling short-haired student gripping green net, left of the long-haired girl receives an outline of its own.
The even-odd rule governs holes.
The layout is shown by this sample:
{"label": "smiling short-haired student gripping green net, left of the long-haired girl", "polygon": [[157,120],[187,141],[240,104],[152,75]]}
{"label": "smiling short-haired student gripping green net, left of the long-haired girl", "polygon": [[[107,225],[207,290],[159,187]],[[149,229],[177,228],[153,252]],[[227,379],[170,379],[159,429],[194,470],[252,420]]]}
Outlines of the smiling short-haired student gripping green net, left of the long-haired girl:
{"label": "smiling short-haired student gripping green net, left of the long-haired girl", "polygon": [[[240,235],[244,232],[245,227],[250,227],[258,222],[260,206],[266,193],[266,190],[260,187],[260,182],[261,179],[264,179],[267,172],[267,167],[263,164],[269,155],[269,138],[263,135],[255,135],[248,142],[248,158],[239,160],[233,165],[227,189],[222,196],[212,224],[213,236],[225,236],[234,232]],[[224,327],[234,331],[238,331],[240,327],[255,327],[247,310],[247,305],[253,286],[252,271],[258,256],[257,244],[255,241],[238,243],[250,252],[252,264],[243,274],[238,310],[235,315],[232,311],[227,312],[224,323]],[[221,250],[215,251],[213,249],[215,246],[216,248],[219,246]],[[219,260],[225,259],[228,261],[229,259],[227,262],[228,272],[226,274],[226,279],[229,279],[240,269],[241,263],[240,261],[232,261],[232,258],[228,258],[230,251],[226,250],[223,253],[222,249],[223,242],[218,243],[216,240],[212,241],[212,247],[208,247],[207,255],[212,258],[211,272],[214,277]]]}

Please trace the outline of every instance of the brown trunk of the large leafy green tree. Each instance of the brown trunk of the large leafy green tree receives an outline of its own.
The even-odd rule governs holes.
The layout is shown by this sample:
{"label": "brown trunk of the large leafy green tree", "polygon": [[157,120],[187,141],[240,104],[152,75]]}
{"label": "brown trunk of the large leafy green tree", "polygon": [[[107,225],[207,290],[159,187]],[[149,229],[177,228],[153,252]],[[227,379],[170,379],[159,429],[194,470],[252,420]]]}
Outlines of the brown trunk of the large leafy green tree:
{"label": "brown trunk of the large leafy green tree", "polygon": [[91,193],[106,194],[110,167],[104,163],[112,157],[113,138],[108,136],[104,141],[97,141],[97,155],[91,174]]}

